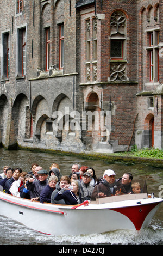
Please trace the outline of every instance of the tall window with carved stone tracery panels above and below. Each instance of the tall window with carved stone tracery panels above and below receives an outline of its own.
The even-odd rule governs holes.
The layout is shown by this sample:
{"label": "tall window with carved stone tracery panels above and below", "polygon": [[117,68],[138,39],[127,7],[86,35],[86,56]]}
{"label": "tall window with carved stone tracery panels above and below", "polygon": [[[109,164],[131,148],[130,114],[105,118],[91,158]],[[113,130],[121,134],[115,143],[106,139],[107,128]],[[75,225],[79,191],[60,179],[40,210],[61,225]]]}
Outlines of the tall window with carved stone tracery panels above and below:
{"label": "tall window with carved stone tracery panels above and below", "polygon": [[126,81],[126,15],[115,11],[110,19],[110,80]]}

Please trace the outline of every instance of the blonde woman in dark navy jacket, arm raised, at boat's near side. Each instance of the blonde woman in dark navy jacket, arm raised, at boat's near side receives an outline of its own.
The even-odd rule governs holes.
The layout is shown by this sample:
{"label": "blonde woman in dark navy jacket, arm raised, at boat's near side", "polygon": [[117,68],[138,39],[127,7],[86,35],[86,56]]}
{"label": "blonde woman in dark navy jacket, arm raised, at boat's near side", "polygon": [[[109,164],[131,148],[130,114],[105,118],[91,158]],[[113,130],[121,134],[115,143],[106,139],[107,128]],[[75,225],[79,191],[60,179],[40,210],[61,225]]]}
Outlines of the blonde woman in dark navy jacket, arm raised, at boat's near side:
{"label": "blonde woman in dark navy jacket, arm raised, at boat's near side", "polygon": [[72,180],[70,184],[66,185],[60,190],[54,197],[54,200],[58,201],[64,199],[66,204],[80,204],[82,203],[82,194],[80,193],[81,183],[78,180]]}

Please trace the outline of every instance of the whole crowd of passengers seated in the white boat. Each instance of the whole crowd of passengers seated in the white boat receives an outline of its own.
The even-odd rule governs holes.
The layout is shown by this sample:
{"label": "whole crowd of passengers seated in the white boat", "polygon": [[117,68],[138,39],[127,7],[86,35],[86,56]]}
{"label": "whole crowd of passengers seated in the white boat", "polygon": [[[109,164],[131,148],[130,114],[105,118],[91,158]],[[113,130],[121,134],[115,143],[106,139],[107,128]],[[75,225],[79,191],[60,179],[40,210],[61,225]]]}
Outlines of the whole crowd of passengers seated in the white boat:
{"label": "whole crowd of passengers seated in the white boat", "polygon": [[124,173],[115,179],[114,170],[105,170],[97,178],[92,167],[74,163],[69,176],[62,175],[59,165],[53,163],[49,172],[33,163],[30,172],[10,166],[0,174],[0,191],[16,197],[37,200],[41,203],[80,204],[85,200],[117,196],[120,194],[142,193],[138,182],[132,183],[133,175]]}

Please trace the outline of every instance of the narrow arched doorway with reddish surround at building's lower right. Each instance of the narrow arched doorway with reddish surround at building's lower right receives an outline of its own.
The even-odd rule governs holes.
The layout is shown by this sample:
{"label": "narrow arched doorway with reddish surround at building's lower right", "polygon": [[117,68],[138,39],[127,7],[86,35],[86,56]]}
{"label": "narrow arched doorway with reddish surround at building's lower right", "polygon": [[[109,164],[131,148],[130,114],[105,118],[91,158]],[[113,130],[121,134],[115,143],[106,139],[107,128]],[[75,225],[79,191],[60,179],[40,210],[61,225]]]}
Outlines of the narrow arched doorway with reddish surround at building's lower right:
{"label": "narrow arched doorway with reddish surround at building's lower right", "polygon": [[154,115],[152,113],[145,118],[143,145],[148,148],[154,146]]}

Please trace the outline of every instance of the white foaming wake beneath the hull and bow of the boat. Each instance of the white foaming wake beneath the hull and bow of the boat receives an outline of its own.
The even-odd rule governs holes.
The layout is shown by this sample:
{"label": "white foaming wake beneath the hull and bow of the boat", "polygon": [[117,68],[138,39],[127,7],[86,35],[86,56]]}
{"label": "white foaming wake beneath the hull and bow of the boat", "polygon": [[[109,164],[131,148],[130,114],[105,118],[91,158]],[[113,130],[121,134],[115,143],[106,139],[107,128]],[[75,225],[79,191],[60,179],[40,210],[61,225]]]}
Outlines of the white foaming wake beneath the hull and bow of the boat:
{"label": "white foaming wake beneath the hull and bow of the boat", "polygon": [[[139,233],[130,230],[115,230],[103,234],[54,236],[53,244],[60,245],[163,245],[163,230],[146,228]],[[48,240],[46,242],[49,241]]]}

